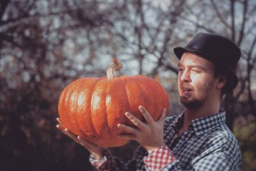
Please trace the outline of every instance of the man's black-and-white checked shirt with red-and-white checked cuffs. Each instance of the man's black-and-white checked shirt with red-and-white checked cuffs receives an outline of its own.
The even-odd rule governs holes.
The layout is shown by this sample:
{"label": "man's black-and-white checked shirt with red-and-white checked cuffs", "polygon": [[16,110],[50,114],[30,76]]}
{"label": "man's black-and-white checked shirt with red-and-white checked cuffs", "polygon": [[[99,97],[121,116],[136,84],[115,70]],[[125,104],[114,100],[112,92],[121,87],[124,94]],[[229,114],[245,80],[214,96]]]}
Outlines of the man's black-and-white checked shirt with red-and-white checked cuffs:
{"label": "man's black-and-white checked shirt with red-and-white checked cuffs", "polygon": [[90,162],[98,170],[241,170],[241,152],[225,125],[225,112],[193,120],[178,137],[183,119],[184,112],[166,118],[166,145],[150,154],[140,146],[132,160],[123,163],[105,149],[104,158],[90,155]]}

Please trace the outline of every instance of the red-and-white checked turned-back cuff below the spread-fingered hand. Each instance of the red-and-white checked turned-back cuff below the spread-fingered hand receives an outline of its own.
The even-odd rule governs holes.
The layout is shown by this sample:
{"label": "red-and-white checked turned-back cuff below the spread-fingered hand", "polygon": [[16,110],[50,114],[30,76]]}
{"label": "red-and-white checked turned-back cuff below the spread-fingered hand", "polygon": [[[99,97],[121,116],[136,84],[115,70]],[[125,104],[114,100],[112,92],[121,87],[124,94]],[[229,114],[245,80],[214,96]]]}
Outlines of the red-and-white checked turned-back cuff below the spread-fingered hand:
{"label": "red-and-white checked turned-back cuff below the spread-fingered hand", "polygon": [[168,146],[163,145],[145,156],[143,160],[148,170],[161,170],[166,165],[173,163],[175,158]]}

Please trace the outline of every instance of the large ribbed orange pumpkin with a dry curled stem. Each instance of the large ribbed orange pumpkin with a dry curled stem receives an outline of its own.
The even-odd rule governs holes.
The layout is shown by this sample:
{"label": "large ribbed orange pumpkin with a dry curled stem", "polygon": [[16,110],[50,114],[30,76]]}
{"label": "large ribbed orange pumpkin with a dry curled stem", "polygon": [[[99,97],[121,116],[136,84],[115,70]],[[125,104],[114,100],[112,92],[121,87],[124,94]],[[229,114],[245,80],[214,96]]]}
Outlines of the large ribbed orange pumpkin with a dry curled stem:
{"label": "large ribbed orange pumpkin with a dry curled stem", "polygon": [[[154,121],[163,108],[168,112],[168,95],[154,79],[143,75],[115,76],[122,63],[113,59],[107,77],[84,77],[65,87],[60,95],[58,112],[61,123],[74,134],[102,147],[117,147],[127,143],[119,138],[123,132],[117,124],[134,124],[125,117],[130,112],[145,122],[138,107],[147,109]],[[135,127],[135,126],[134,126]]]}

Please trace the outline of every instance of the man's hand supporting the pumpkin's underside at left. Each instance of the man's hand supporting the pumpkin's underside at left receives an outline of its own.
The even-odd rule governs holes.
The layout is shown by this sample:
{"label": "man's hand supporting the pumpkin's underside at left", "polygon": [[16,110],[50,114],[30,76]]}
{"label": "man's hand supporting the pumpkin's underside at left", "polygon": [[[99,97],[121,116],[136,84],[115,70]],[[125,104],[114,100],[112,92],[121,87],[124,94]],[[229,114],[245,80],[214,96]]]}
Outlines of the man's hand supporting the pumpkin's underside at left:
{"label": "man's hand supporting the pumpkin's underside at left", "polygon": [[99,145],[92,144],[91,142],[88,142],[84,140],[84,138],[80,136],[76,136],[74,133],[72,133],[68,128],[65,128],[63,124],[61,124],[60,117],[56,119],[59,124],[56,125],[56,127],[61,130],[65,135],[72,138],[72,140],[76,141],[78,144],[83,145],[88,151],[90,151],[93,154],[93,157],[97,159],[103,158],[103,148]]}

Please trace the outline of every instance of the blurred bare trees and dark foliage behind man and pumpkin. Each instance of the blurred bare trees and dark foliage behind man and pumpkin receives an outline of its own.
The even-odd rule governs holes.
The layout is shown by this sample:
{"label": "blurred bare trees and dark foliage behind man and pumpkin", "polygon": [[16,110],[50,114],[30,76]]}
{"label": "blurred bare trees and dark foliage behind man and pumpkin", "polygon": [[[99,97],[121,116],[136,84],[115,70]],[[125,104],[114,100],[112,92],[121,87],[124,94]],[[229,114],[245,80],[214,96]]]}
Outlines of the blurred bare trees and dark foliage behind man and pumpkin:
{"label": "blurred bare trees and dark foliage behind man and pumpkin", "polygon": [[[111,58],[120,75],[146,75],[183,107],[177,59],[198,32],[218,33],[242,50],[239,84],[225,96],[227,125],[256,170],[256,1],[253,0],[1,0],[0,170],[93,170],[88,151],[56,129],[58,98],[81,77],[104,77]],[[123,161],[137,147],[111,151]]]}

